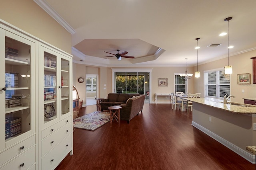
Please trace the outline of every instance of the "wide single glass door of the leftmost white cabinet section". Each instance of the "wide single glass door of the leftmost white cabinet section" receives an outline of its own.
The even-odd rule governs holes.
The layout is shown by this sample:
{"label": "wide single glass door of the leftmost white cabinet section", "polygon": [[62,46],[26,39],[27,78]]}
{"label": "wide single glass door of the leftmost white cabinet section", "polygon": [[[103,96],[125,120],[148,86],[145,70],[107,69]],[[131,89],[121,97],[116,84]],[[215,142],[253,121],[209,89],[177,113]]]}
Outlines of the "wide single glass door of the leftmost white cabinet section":
{"label": "wide single glass door of the leftmost white cabinet section", "polygon": [[[5,103],[5,147],[35,133],[34,60],[35,43],[1,30],[1,103]],[[33,65],[33,66],[32,66]],[[2,83],[1,83],[2,84]],[[33,92],[33,94],[32,94]],[[2,116],[2,115],[1,115]]]}

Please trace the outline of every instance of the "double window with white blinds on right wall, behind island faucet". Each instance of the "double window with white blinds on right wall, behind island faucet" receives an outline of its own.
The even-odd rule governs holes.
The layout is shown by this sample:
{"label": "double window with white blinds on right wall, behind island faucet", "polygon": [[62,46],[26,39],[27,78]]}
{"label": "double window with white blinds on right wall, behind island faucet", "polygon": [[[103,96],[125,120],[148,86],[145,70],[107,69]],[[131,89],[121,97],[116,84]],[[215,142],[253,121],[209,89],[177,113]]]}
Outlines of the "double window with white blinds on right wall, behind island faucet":
{"label": "double window with white blinds on right wall, behind island faucet", "polygon": [[204,72],[205,96],[223,98],[230,95],[230,74],[224,69]]}

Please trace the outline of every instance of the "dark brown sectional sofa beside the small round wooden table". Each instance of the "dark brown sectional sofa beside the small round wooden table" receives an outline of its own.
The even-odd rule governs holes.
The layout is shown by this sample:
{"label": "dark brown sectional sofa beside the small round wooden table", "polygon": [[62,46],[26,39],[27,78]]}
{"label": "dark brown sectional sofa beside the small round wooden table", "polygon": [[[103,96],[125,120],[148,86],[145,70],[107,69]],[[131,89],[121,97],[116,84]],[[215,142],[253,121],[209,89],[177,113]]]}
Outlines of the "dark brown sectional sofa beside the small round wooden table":
{"label": "dark brown sectional sofa beside the small round wooden table", "polygon": [[143,109],[145,94],[117,94],[110,93],[108,98],[100,103],[101,111],[108,110],[109,106],[121,106],[120,119],[127,123]]}

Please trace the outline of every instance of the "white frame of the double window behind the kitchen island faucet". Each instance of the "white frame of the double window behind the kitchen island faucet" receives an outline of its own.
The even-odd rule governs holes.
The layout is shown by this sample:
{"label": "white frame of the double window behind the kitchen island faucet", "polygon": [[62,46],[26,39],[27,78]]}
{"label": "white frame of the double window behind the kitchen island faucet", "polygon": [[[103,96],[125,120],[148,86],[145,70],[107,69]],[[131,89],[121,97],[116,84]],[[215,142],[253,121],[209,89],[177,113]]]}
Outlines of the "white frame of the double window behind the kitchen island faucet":
{"label": "white frame of the double window behind the kitchen island faucet", "polygon": [[[229,85],[229,94],[231,94],[231,76],[229,78],[229,84],[220,84],[220,71],[224,71],[224,68],[217,68],[217,69],[213,69],[213,70],[205,70],[204,71],[204,97],[208,97],[208,98],[219,98],[222,99],[222,97],[220,97],[220,86],[221,85]],[[216,96],[209,96],[208,95],[208,73],[209,72],[216,72]]]}

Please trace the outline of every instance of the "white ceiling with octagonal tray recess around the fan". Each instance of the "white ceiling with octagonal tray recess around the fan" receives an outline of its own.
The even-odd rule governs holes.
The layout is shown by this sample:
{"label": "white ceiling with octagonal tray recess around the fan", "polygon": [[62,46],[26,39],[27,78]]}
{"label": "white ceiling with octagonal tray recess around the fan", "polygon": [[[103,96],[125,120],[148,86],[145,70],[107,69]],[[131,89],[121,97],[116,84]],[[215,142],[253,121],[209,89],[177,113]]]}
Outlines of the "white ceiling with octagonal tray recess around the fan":
{"label": "white ceiling with octagonal tray recess around the fan", "polygon": [[[256,49],[256,0],[34,0],[72,34],[74,62],[188,66]],[[207,47],[219,43],[217,47]],[[109,56],[127,51],[134,59]],[[81,62],[80,60],[83,60]],[[230,63],[232,65],[232,63]],[[227,63],[224,63],[227,65]]]}

